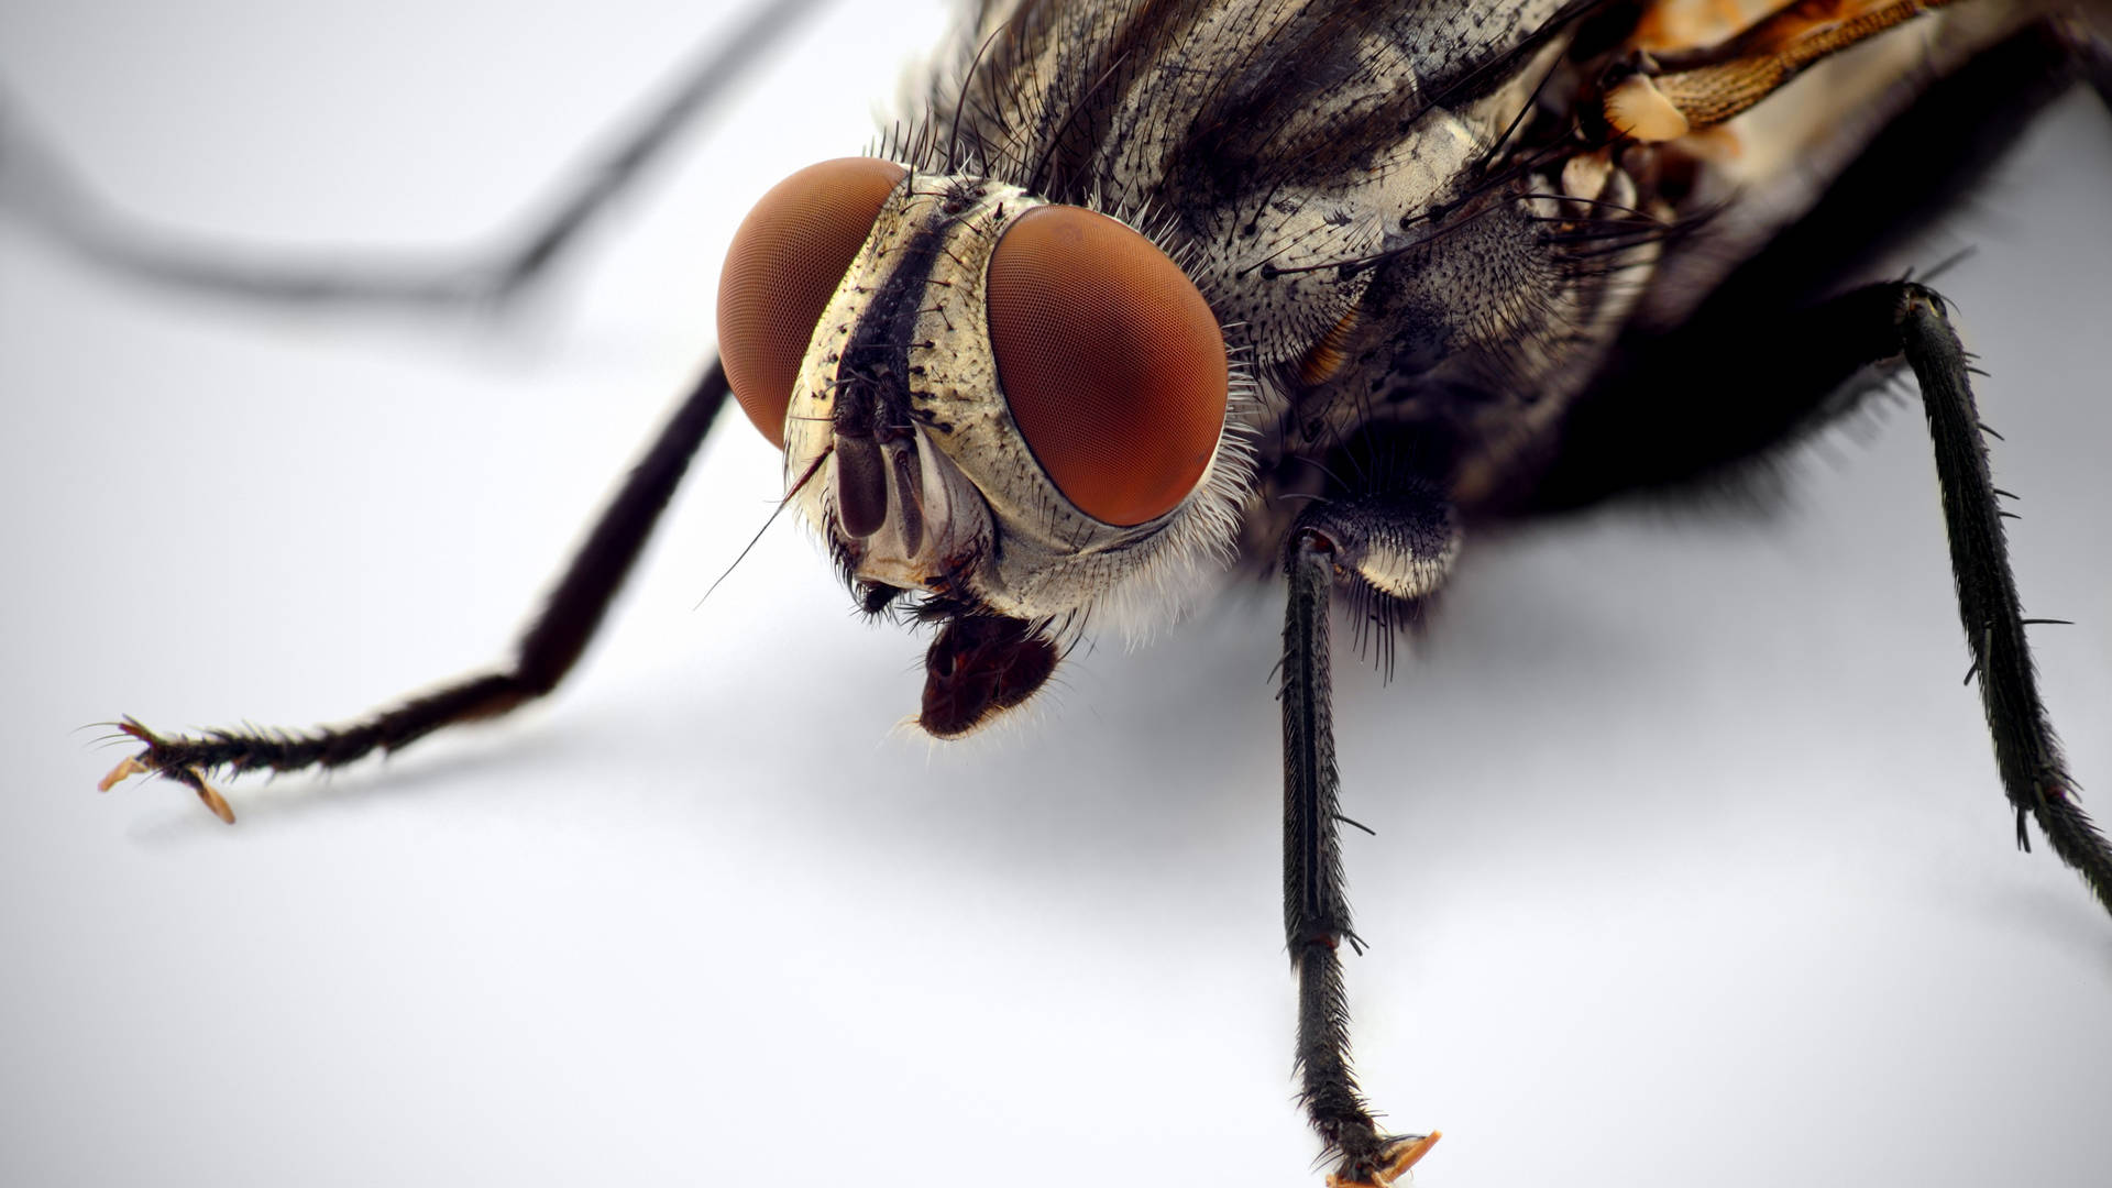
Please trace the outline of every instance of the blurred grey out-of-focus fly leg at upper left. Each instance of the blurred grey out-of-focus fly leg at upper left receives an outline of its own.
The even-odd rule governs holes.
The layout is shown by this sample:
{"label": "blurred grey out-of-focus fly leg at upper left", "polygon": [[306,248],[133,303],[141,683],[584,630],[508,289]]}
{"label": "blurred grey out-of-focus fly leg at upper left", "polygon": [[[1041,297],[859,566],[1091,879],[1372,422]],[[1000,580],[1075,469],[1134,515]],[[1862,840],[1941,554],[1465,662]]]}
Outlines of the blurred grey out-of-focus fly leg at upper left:
{"label": "blurred grey out-of-focus fly leg at upper left", "polygon": [[[517,298],[579,233],[653,163],[682,127],[815,0],[756,8],[733,36],[682,70],[648,110],[615,129],[539,209],[536,226],[484,258],[367,266],[351,260],[256,260],[226,243],[169,237],[114,214],[49,144],[0,104],[0,211],[11,211],[120,277],[270,304],[490,309]],[[4,93],[0,93],[4,95]],[[249,256],[249,260],[245,260]]]}

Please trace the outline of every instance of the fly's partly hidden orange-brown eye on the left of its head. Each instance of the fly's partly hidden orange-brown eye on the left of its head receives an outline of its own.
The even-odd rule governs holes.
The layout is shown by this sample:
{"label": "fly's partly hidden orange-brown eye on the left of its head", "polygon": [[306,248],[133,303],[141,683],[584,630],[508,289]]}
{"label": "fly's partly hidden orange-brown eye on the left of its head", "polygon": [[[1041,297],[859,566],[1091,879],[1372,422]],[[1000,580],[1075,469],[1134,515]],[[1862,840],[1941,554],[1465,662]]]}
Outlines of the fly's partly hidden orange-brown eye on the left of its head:
{"label": "fly's partly hidden orange-brown eye on the left of its head", "polygon": [[815,323],[904,175],[870,156],[809,165],[771,186],[733,233],[718,277],[718,357],[733,400],[779,450]]}

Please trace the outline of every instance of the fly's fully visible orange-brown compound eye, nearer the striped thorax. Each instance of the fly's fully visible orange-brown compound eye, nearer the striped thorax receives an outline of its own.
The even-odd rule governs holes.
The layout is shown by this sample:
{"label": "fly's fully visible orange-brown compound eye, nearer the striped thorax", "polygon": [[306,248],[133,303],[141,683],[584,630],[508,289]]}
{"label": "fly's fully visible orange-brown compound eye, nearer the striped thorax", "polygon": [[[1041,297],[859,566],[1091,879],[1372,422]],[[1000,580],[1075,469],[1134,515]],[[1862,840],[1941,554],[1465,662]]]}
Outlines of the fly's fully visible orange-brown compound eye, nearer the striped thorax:
{"label": "fly's fully visible orange-brown compound eye, nearer the striped thorax", "polygon": [[1012,421],[1094,520],[1181,505],[1225,427],[1225,336],[1149,239],[1083,207],[1035,207],[997,241],[991,349]]}

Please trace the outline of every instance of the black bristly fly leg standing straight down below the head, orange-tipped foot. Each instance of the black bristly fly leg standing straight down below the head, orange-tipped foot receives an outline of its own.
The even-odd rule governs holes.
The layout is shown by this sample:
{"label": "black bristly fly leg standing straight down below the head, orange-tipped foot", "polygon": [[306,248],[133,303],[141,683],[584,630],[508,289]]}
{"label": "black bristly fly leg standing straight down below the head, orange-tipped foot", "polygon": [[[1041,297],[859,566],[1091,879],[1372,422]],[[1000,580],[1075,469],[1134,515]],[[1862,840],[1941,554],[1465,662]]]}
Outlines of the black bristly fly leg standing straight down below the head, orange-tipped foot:
{"label": "black bristly fly leg standing straight down below the head, orange-tipped foot", "polygon": [[1385,1188],[1438,1139],[1383,1135],[1350,1068],[1341,947],[1350,926],[1337,824],[1341,776],[1328,710],[1328,607],[1337,577],[1419,598],[1457,554],[1459,524],[1428,488],[1314,503],[1284,547],[1284,936],[1299,977],[1299,1097],[1328,1156],[1328,1188]]}

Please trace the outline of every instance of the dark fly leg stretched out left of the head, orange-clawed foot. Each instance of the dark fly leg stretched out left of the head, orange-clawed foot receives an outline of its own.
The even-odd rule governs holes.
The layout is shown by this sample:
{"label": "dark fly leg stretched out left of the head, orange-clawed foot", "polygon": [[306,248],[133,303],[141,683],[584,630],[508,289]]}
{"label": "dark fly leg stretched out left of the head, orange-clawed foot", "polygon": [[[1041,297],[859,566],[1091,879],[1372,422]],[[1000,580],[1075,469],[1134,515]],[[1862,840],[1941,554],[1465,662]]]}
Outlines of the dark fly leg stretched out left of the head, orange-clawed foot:
{"label": "dark fly leg stretched out left of the head, orange-clawed foot", "polygon": [[146,746],[103,776],[101,791],[129,776],[167,776],[194,791],[220,820],[234,824],[228,801],[207,782],[213,772],[342,767],[374,750],[397,750],[435,729],[498,717],[549,693],[602,626],[608,602],[653,535],[727,391],[727,370],[714,361],[572,554],[558,588],[522,634],[513,664],[406,698],[351,725],[308,731],[245,727],[163,738],[125,719],[118,727]]}

